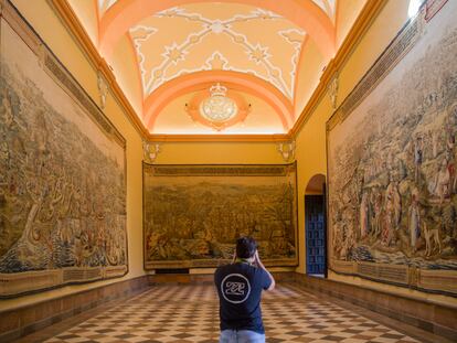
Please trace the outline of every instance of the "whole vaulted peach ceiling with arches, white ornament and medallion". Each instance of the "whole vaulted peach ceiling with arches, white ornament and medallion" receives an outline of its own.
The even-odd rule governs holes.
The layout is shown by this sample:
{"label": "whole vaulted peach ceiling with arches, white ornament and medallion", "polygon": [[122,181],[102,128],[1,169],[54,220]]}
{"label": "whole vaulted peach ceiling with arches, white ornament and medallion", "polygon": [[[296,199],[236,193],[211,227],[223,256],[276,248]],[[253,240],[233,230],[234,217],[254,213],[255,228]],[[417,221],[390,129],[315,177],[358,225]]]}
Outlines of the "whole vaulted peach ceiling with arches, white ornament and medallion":
{"label": "whole vaulted peach ceiling with arches, white ornament and medallion", "polygon": [[151,135],[280,135],[365,0],[67,2]]}

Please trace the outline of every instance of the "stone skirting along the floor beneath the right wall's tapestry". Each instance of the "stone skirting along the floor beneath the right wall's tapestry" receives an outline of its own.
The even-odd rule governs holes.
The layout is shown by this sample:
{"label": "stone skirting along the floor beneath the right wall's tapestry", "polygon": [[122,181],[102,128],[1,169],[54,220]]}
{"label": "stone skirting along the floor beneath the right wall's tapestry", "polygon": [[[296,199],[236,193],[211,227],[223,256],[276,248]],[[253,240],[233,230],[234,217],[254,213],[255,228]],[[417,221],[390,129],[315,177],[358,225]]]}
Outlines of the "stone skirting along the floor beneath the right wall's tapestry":
{"label": "stone skirting along the floor beneath the right wall's tapestry", "polygon": [[295,274],[295,282],[457,342],[457,308]]}

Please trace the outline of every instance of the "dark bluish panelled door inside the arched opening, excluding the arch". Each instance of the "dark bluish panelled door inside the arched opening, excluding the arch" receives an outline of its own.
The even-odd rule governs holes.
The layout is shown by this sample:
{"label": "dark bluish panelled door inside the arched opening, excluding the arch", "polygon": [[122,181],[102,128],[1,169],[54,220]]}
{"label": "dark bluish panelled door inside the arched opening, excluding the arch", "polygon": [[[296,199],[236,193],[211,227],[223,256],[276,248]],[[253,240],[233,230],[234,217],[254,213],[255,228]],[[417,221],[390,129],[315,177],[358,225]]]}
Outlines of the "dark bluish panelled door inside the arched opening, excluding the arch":
{"label": "dark bluish panelled door inside the arched opening, excluding the arch", "polygon": [[326,196],[305,195],[306,274],[327,277]]}

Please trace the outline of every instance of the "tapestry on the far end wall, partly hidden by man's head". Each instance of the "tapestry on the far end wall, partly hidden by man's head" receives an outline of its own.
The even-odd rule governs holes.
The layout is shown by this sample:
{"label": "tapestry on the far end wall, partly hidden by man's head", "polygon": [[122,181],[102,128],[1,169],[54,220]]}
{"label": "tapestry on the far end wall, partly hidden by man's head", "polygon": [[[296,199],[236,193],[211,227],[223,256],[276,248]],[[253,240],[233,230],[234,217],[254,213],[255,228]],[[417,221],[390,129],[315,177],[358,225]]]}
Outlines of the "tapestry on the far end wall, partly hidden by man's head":
{"label": "tapestry on the far end wall, partly hidden by man's head", "polygon": [[269,266],[297,265],[296,164],[144,163],[145,267],[215,267],[252,236]]}

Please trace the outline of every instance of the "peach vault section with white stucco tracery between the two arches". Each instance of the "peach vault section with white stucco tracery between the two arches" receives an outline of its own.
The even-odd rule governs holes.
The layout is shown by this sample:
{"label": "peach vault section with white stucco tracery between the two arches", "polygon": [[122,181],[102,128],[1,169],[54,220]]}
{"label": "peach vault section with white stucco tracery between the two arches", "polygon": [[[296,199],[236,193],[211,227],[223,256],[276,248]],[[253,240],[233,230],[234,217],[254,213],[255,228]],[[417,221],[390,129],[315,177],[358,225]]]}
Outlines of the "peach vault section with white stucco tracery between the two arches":
{"label": "peach vault section with white stucco tracery between the two arches", "polygon": [[[278,14],[248,6],[243,8],[248,9],[247,13],[230,18],[222,18],[222,14],[221,18],[206,18],[184,7],[172,8],[158,12],[130,29],[139,56],[145,95],[148,96],[162,84],[184,74],[223,69],[255,75],[293,99],[300,39],[302,42],[306,33]],[[185,31],[181,36],[176,34],[169,37],[169,32],[160,29],[160,24],[164,26],[164,21],[172,21],[168,23],[169,26],[188,25],[185,28],[192,30]],[[263,23],[265,21],[275,24],[269,28]],[[272,32],[266,31],[265,36],[258,36],[249,31],[249,28],[258,30],[262,25]],[[150,30],[148,34],[146,29]],[[273,45],[268,41],[272,37]],[[214,46],[214,42],[224,44]],[[162,53],[158,54],[160,49]],[[200,51],[206,57],[202,58]],[[247,58],[241,58],[243,54]]]}

